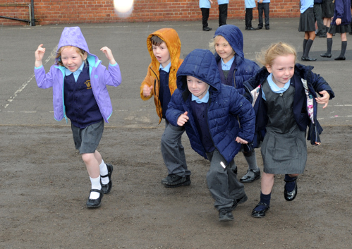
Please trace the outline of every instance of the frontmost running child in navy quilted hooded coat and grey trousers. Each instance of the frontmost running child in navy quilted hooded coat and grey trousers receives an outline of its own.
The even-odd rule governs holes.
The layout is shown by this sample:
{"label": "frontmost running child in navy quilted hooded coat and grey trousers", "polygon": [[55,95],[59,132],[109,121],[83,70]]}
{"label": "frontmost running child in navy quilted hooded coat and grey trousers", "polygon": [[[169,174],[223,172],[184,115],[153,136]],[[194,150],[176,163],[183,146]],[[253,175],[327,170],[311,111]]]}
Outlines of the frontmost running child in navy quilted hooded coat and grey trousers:
{"label": "frontmost running child in navy quilted hooded coat and grey trousers", "polygon": [[211,51],[195,49],[178,68],[166,119],[172,126],[184,126],[193,150],[210,160],[207,185],[219,221],[233,220],[232,210],[248,199],[233,158],[241,144],[253,140],[255,114],[235,87],[221,84]]}

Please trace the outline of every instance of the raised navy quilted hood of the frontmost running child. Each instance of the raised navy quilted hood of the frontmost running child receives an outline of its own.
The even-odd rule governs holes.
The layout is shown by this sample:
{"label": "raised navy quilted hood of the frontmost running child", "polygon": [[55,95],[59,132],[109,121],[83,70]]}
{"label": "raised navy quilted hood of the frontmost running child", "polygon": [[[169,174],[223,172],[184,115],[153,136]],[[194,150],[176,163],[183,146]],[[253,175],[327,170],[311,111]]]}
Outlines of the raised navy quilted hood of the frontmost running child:
{"label": "raised navy quilted hood of the frontmost running child", "polygon": [[[211,51],[195,49],[183,60],[177,71],[177,88],[183,93],[188,93],[187,75],[198,78],[210,85],[211,96],[216,96],[221,90],[221,80],[217,61]],[[185,95],[183,95],[185,96]]]}

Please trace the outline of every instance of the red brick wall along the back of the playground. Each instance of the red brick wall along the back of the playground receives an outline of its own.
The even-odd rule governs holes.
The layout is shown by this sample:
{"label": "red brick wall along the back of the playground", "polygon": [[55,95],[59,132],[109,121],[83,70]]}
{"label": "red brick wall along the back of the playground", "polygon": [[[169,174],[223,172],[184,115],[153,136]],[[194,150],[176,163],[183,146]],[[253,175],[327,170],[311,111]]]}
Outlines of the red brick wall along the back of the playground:
{"label": "red brick wall along the back of the playground", "polygon": [[[128,0],[120,0],[128,1]],[[210,9],[210,20],[218,18],[217,1]],[[30,0],[0,0],[0,16],[29,20],[29,9],[4,4],[30,4]],[[114,11],[114,0],[34,0],[36,25],[66,23],[118,23],[164,20],[201,20],[198,0],[135,0],[130,16]],[[229,1],[229,19],[244,19],[244,0]],[[292,18],[299,16],[298,0],[272,0],[270,17]],[[253,9],[257,19],[257,8]],[[0,25],[28,25],[18,20],[0,18]]]}

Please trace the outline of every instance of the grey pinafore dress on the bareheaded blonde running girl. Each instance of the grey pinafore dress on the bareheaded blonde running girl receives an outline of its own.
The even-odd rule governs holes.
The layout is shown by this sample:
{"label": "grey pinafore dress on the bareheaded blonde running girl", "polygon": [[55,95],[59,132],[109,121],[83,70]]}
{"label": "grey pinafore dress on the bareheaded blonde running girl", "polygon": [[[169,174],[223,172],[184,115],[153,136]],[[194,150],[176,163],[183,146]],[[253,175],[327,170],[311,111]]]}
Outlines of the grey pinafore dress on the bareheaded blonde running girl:
{"label": "grey pinafore dress on the bareheaded blonde running girl", "polygon": [[307,162],[305,131],[299,130],[293,116],[295,87],[283,93],[270,89],[267,80],[262,84],[265,93],[268,123],[262,143],[264,172],[267,174],[302,174]]}

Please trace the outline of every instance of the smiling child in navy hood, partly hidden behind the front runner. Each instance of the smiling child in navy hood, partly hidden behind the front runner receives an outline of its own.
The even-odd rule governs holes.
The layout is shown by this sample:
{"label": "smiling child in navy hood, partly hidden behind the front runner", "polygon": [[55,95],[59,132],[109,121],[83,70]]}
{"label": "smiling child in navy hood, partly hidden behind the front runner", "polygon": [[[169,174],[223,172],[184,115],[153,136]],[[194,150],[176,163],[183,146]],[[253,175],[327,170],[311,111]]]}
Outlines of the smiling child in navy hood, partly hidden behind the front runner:
{"label": "smiling child in navy hood, partly hidden behind the front runner", "polygon": [[[215,31],[214,40],[210,42],[209,46],[210,49],[215,49],[216,51],[215,59],[221,83],[235,87],[243,95],[245,93],[243,83],[253,77],[260,68],[254,61],[245,59],[241,30],[235,25],[221,26]],[[242,148],[241,152],[243,152],[248,163],[248,171],[240,181],[242,183],[251,183],[260,178],[260,169],[257,166],[255,151],[253,149],[250,152],[245,152],[244,148]]]}

